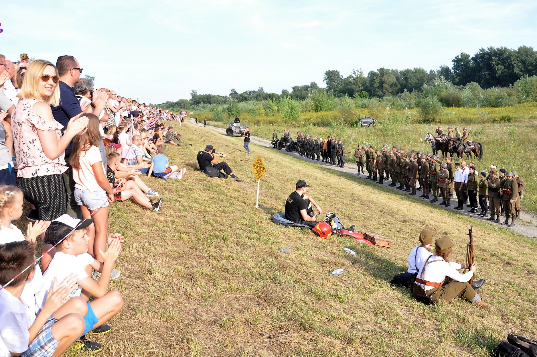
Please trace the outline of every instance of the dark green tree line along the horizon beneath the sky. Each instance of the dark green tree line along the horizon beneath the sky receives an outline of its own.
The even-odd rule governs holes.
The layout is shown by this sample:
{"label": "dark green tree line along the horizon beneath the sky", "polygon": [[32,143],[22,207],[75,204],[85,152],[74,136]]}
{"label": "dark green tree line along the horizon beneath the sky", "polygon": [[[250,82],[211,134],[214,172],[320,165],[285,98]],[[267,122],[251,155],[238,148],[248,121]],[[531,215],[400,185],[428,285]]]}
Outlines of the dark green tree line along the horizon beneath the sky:
{"label": "dark green tree line along the horizon beneath the sky", "polygon": [[[323,81],[325,91],[333,97],[350,98],[384,98],[401,97],[405,93],[424,96],[427,88],[435,87],[441,79],[452,84],[454,98],[438,99],[445,106],[459,106],[463,89],[470,86],[475,88],[509,88],[520,78],[537,75],[537,51],[532,47],[521,46],[516,50],[507,47],[481,48],[473,56],[467,53],[456,55],[452,60],[453,66],[440,66],[438,70],[423,68],[407,68],[404,70],[379,68],[364,74],[360,69],[344,77],[338,70],[326,70]],[[308,97],[322,88],[315,82],[304,85],[295,85],[291,91],[282,89],[281,93],[265,92],[263,87],[257,90],[247,90],[242,93],[231,89],[228,96],[214,94],[198,94],[192,90],[190,99],[179,99],[175,102],[158,104],[168,110],[190,109],[201,104],[226,104],[230,100],[241,103],[249,101],[277,101],[282,98],[291,98],[297,101],[306,101]],[[508,94],[507,94],[508,95]],[[426,95],[428,96],[428,95]]]}

